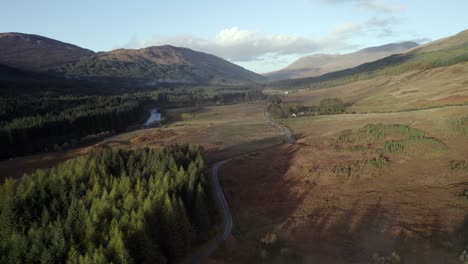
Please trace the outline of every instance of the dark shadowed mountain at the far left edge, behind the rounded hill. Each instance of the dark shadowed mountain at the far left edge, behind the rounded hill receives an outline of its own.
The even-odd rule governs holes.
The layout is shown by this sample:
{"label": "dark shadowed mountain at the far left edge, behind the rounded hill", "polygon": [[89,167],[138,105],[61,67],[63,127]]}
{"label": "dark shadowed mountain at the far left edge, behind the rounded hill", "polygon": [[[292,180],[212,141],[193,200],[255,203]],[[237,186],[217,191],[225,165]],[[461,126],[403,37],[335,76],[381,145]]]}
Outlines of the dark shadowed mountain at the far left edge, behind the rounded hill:
{"label": "dark shadowed mountain at the far left edge, behind the rounded hill", "polygon": [[45,72],[93,55],[91,50],[54,39],[22,33],[0,33],[0,64]]}

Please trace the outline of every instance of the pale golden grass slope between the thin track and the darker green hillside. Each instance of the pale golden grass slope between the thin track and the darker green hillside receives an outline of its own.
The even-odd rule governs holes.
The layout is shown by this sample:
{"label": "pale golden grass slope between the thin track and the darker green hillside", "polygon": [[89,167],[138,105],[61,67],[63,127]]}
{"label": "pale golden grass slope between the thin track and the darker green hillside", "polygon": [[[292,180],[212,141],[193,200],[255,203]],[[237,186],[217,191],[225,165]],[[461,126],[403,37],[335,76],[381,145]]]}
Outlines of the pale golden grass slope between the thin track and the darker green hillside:
{"label": "pale golden grass slope between the thin track and the darker green hillside", "polygon": [[386,112],[468,102],[468,63],[395,76],[381,76],[333,88],[299,90],[286,102],[318,105],[326,97],[353,103],[348,112]]}

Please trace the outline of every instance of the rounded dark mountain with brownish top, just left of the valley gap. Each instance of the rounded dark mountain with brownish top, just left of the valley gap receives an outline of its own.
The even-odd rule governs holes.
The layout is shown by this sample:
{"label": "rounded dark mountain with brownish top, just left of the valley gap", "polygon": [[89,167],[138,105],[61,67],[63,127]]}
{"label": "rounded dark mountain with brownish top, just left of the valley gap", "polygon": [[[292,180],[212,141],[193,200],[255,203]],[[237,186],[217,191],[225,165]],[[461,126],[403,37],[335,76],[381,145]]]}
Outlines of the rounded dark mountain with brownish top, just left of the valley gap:
{"label": "rounded dark mountain with brownish top, just left of the valley gap", "polygon": [[67,77],[125,78],[150,85],[265,81],[265,77],[214,55],[173,46],[100,52],[57,71]]}

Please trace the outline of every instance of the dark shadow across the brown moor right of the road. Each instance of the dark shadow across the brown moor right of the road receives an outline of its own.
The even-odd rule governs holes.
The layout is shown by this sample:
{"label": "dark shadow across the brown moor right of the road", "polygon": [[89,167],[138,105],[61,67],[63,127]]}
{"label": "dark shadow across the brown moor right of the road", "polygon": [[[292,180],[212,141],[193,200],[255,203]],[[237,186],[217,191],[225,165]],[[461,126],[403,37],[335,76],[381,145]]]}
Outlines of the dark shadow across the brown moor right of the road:
{"label": "dark shadow across the brown moor right of the road", "polygon": [[[427,216],[426,223],[398,220],[401,216],[392,215],[378,197],[366,202],[358,198],[348,208],[316,204],[304,214],[301,206],[316,195],[315,188],[301,177],[288,176],[300,147],[270,147],[221,168],[234,229],[213,259],[265,262],[259,257],[260,239],[271,232],[278,234],[282,245],[302,255],[302,263],[392,263],[394,252],[399,263],[458,263],[468,244],[468,213],[455,232],[444,229],[444,216],[435,213]],[[284,263],[284,258],[271,263]]]}

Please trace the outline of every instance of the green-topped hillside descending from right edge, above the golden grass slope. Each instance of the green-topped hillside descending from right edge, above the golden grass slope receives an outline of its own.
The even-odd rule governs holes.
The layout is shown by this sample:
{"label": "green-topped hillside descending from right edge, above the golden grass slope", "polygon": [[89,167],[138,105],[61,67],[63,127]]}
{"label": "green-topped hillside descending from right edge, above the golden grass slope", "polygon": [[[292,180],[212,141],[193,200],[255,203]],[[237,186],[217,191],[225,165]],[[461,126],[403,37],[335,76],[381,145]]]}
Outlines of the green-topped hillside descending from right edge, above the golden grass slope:
{"label": "green-topped hillside descending from right edge, above the golden grass slope", "polygon": [[328,88],[379,76],[447,67],[468,61],[468,30],[430,42],[406,53],[392,55],[357,67],[318,77],[275,81],[272,88]]}

